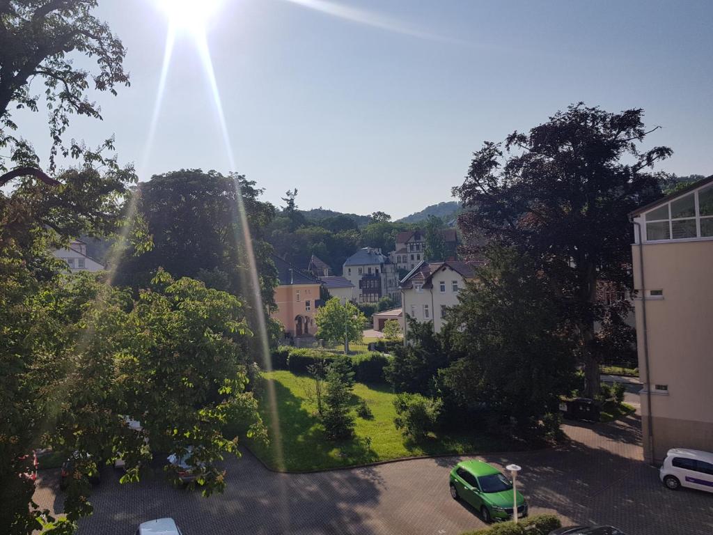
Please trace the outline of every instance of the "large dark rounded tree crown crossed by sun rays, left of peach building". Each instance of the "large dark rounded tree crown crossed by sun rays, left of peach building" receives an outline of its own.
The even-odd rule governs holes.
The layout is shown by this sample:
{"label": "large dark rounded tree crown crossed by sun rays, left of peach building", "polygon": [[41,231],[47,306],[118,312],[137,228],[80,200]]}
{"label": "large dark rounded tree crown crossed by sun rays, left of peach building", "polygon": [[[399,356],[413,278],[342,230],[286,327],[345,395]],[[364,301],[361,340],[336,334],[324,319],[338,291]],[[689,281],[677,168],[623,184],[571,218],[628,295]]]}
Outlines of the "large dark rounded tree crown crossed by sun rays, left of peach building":
{"label": "large dark rounded tree crown crossed by sun rays, left of peach building", "polygon": [[[272,248],[263,229],[275,207],[260,200],[262,190],[244,175],[182,169],[155,175],[140,183],[137,211],[153,236],[153,249],[128,255],[118,268],[117,282],[142,287],[159,267],[176,277],[198,277],[233,295],[252,297],[248,248],[260,273],[262,302],[274,305],[277,273]],[[238,210],[247,216],[242,228]],[[245,236],[250,236],[250,243]],[[251,303],[260,310],[262,303]]]}

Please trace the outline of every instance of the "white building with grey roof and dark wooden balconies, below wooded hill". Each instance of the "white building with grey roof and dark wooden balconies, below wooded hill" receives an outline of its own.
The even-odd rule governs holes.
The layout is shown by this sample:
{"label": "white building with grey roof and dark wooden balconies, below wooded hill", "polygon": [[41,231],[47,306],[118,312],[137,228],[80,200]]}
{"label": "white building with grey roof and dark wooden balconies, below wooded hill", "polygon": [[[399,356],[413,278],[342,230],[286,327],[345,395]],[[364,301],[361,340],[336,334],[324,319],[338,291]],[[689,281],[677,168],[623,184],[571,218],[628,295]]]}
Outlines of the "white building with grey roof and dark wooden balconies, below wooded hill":
{"label": "white building with grey roof and dark wooden balconies, below wooded hill", "polygon": [[365,247],[347,258],[342,276],[354,285],[354,300],[359,303],[378,302],[391,297],[399,302],[399,273],[381,249]]}

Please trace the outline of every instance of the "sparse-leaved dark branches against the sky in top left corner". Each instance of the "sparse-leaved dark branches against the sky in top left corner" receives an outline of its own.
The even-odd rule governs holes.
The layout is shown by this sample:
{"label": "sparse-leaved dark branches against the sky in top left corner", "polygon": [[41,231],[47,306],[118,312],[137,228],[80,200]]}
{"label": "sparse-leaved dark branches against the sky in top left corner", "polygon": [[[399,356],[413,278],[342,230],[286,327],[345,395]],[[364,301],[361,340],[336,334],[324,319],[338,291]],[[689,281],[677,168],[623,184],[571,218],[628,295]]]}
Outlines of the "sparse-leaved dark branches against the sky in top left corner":
{"label": "sparse-leaved dark branches against the sky in top left corner", "polygon": [[[96,0],[9,0],[0,2],[0,148],[7,148],[14,169],[0,175],[0,185],[18,176],[38,178],[47,185],[57,185],[39,168],[39,157],[31,142],[16,136],[17,125],[11,108],[39,111],[49,108],[49,134],[52,148],[49,170],[56,170],[56,156],[83,158],[86,165],[100,164],[116,168],[116,158],[102,156],[113,150],[113,138],[91,150],[64,134],[71,115],[101,119],[99,106],[90,101],[90,85],[96,91],[116,95],[118,86],[129,85],[123,70],[125,49],[109,27],[91,11]],[[96,71],[78,68],[71,60],[73,52],[94,58]],[[29,81],[44,82],[44,103],[31,92]],[[0,172],[6,171],[0,159]]]}

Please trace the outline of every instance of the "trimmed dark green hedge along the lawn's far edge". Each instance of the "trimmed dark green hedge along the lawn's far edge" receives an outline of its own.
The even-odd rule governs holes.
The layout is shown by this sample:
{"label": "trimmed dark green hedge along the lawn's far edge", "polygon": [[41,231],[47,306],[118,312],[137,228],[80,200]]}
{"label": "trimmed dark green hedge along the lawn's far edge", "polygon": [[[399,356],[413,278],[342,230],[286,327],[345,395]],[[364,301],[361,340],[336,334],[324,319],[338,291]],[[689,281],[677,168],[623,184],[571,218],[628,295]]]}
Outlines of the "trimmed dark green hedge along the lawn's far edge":
{"label": "trimmed dark green hedge along the lawn's far edge", "polygon": [[[280,346],[272,351],[272,369],[289,370],[293,373],[308,373],[309,365],[317,360],[324,360],[325,364],[333,362],[337,355],[312,350]],[[361,353],[352,357],[354,379],[358,382],[384,382],[384,367],[391,362],[389,355],[381,353]]]}

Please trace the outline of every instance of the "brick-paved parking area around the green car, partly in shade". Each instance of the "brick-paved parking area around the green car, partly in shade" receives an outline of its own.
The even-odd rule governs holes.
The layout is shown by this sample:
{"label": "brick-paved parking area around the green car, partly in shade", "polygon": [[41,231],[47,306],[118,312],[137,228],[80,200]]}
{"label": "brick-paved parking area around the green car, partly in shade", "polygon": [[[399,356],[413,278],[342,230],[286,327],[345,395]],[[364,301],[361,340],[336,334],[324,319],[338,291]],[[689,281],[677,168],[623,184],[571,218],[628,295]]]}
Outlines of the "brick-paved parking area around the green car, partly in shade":
{"label": "brick-paved parking area around the green car, partly in shade", "polygon": [[[628,535],[709,535],[713,494],[668,491],[642,462],[640,420],[566,424],[558,449],[478,457],[523,467],[518,482],[532,514],[563,521],[614,524]],[[173,489],[161,475],[118,484],[108,469],[81,534],[128,535],[145,520],[172,516],[185,535],[438,534],[483,526],[448,494],[448,470],[461,457],[416,459],[319,474],[276,474],[244,452],[225,463],[224,494],[204,498]],[[35,499],[61,510],[57,474],[40,472]]]}

